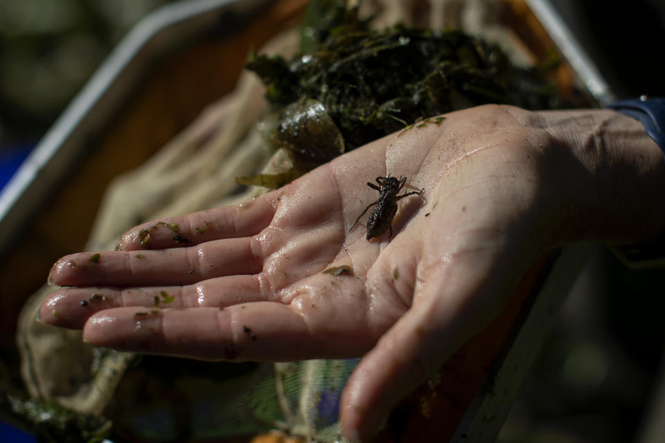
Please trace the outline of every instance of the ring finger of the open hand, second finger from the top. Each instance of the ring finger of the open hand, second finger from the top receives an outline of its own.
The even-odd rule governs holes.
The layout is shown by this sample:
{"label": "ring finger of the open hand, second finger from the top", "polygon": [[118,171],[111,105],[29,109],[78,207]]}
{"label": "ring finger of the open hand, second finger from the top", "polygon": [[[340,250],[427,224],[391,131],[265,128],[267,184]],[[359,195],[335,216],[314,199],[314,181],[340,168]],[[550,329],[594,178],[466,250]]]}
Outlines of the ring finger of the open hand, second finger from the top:
{"label": "ring finger of the open hand, second finger from the top", "polygon": [[71,254],[55,262],[48,279],[60,286],[168,286],[258,273],[262,266],[251,238],[243,237],[160,251]]}

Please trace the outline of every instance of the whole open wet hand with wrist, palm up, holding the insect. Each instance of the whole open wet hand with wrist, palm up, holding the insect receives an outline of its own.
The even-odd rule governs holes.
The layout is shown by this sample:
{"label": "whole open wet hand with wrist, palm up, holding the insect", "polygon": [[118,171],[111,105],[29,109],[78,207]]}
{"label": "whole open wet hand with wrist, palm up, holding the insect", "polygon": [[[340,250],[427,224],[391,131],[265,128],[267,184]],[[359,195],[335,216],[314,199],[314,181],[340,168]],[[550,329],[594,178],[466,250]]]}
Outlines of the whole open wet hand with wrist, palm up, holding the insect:
{"label": "whole open wet hand with wrist, palm up, holding the insect", "polygon": [[[366,230],[350,228],[376,200],[366,182],[388,174],[408,177],[407,192],[424,191],[398,201],[390,241],[385,232],[368,242]],[[46,298],[41,316],[137,352],[362,356],[340,415],[346,437],[366,441],[502,309],[543,251],[664,235],[663,189],[663,154],[636,120],[477,107],[360,147],[245,204],[137,226],[121,251],[96,261],[91,252],[62,257],[50,279],[70,288]],[[173,224],[189,243],[175,241]],[[141,232],[156,225],[144,250]],[[353,275],[321,272],[342,265]]]}

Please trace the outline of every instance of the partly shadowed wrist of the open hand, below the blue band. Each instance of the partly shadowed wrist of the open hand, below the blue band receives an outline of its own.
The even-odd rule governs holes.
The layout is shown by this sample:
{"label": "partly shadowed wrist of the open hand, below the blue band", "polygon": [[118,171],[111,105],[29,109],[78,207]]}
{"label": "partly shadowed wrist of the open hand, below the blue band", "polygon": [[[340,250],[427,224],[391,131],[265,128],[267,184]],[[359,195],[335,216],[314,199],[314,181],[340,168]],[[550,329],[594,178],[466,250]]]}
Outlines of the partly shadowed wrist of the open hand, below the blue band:
{"label": "partly shadowed wrist of the open hand, below the blue band", "polygon": [[569,170],[556,172],[570,187],[569,240],[628,244],[665,235],[665,162],[644,125],[608,109],[537,114],[553,148],[569,156]]}

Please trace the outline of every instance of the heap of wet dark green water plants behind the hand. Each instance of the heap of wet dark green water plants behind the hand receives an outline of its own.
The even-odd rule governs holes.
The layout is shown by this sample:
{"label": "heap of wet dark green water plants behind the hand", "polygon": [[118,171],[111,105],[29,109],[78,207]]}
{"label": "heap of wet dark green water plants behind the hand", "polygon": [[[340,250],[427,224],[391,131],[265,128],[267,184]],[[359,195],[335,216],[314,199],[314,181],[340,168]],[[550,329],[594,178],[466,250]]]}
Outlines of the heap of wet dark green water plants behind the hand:
{"label": "heap of wet dark green water plants behind the hand", "polygon": [[283,186],[333,156],[414,123],[441,125],[441,114],[463,107],[563,105],[542,70],[514,66],[482,39],[457,30],[369,30],[353,11],[327,9],[330,15],[319,17],[320,23],[312,15],[303,24],[310,28],[301,45],[307,52],[290,61],[253,55],[247,63],[267,86],[272,114],[266,121],[277,122],[272,143],[292,152],[294,162],[282,174],[241,177],[238,183]]}

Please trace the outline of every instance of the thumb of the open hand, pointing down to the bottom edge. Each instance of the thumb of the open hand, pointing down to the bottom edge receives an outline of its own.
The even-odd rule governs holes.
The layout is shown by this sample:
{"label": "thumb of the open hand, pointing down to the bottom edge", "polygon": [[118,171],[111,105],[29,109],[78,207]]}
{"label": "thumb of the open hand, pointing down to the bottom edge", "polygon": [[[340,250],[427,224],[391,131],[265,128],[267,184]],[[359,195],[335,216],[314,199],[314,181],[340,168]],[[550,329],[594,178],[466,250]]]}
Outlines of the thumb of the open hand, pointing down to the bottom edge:
{"label": "thumb of the open hand, pointing down to the bottom edge", "polygon": [[340,411],[349,441],[370,441],[391,410],[499,312],[503,295],[512,292],[511,282],[520,275],[506,278],[506,269],[496,263],[487,255],[469,254],[419,279],[414,304],[346,383]]}

